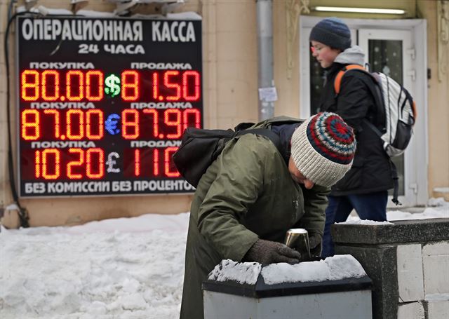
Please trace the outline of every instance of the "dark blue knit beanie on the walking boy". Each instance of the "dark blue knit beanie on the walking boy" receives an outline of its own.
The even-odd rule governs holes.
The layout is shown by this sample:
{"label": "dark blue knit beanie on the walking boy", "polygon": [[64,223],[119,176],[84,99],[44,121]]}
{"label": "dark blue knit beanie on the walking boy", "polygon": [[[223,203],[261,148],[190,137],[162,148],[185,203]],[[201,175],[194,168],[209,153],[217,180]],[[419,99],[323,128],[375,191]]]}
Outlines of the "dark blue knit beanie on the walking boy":
{"label": "dark blue knit beanie on the walking boy", "polygon": [[309,41],[318,41],[331,48],[346,50],[351,46],[351,32],[339,18],[326,18],[311,29]]}

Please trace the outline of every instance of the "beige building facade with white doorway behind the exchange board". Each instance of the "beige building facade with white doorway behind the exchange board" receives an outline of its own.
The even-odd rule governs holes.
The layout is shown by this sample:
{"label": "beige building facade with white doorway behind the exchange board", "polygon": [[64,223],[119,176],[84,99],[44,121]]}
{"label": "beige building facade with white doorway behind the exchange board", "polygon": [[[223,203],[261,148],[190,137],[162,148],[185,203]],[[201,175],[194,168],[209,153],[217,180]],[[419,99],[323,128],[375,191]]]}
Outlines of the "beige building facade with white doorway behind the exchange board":
{"label": "beige building facade with white doorway behind the exchange board", "polygon": [[[322,74],[310,57],[311,27],[326,16],[344,19],[353,43],[366,52],[375,71],[390,72],[410,90],[417,102],[415,135],[402,158],[395,159],[401,175],[401,200],[407,206],[426,205],[428,198],[445,196],[449,187],[449,1],[434,0],[273,0],[272,43],[274,115],[309,116],[319,95]],[[84,10],[116,10],[109,1],[85,1]],[[374,4],[375,3],[375,4]],[[24,5],[18,1],[13,7]],[[42,0],[46,8],[73,9],[61,1]],[[316,11],[317,6],[390,8],[402,14],[337,13]],[[10,1],[0,1],[0,34],[6,32]],[[134,13],[160,12],[161,5],[139,4]],[[257,121],[260,112],[258,83],[257,1],[185,1],[175,12],[195,12],[202,18],[203,126],[234,128],[237,123]],[[9,49],[15,52],[15,28]],[[2,48],[4,43],[2,41]],[[2,50],[3,52],[3,50]],[[16,57],[10,55],[14,70]],[[376,69],[377,68],[377,69]],[[0,57],[0,101],[6,105],[6,61]],[[10,75],[12,132],[16,132],[14,71]],[[0,208],[13,211],[8,167],[6,108],[0,109]],[[13,136],[13,156],[17,147]],[[15,158],[14,163],[17,163]],[[15,167],[17,169],[17,167]],[[17,174],[14,174],[17,178]],[[15,182],[17,185],[17,181]],[[29,224],[70,225],[111,217],[145,213],[189,211],[192,194],[151,196],[88,196],[79,198],[20,198]]]}

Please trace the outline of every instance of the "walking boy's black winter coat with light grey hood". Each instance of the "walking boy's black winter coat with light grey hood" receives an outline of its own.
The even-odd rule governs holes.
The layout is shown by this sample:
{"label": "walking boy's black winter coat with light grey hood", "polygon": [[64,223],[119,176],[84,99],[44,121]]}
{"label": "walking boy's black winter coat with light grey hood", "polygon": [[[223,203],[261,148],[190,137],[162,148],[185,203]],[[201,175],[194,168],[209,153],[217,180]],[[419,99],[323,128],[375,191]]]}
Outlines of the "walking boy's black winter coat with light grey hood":
{"label": "walking boy's black winter coat with light grey hood", "polygon": [[342,116],[354,128],[357,140],[351,170],[332,187],[333,196],[368,194],[392,189],[394,186],[389,157],[382,147],[380,137],[363,122],[363,118],[367,118],[380,130],[384,125],[384,119],[382,123],[377,119],[382,116],[378,116],[374,97],[370,93],[369,86],[374,85],[373,80],[362,72],[347,72],[342,78],[340,94],[335,96],[335,76],[349,64],[363,65],[363,53],[356,46],[337,56],[328,69],[326,85],[321,95],[321,111],[331,111]]}

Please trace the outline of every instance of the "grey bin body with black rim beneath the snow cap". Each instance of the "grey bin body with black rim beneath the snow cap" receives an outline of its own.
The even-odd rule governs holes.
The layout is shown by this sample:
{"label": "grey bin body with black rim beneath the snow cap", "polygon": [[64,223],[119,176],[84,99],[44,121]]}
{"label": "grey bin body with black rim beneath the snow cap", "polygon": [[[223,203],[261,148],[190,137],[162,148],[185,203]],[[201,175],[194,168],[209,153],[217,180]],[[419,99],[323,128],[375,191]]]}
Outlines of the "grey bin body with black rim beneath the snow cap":
{"label": "grey bin body with black rim beneath the snow cap", "polygon": [[[354,259],[354,257],[351,258]],[[222,264],[223,262],[226,261],[222,261]],[[308,267],[312,272],[319,269],[320,266],[312,262],[301,264],[302,269]],[[269,284],[265,282],[267,276],[264,276],[264,269],[266,267],[282,266],[285,268],[286,265],[288,264],[261,265],[260,273],[253,284],[227,280],[226,276],[212,279],[209,276],[209,280],[203,283],[204,318],[372,318],[372,282],[366,273],[358,278],[340,280]],[[221,267],[225,268],[223,265]],[[300,271],[300,269],[297,270]],[[332,271],[338,271],[338,269],[332,269]],[[286,280],[288,281],[288,278]]]}

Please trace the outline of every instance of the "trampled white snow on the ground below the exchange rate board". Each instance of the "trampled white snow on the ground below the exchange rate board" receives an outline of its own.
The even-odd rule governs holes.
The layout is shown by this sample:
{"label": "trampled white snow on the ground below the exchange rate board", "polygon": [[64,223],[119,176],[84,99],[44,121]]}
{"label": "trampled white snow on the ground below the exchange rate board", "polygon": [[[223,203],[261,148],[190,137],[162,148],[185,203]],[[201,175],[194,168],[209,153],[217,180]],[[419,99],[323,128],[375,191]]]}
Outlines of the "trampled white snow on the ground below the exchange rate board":
{"label": "trampled white snow on the ground below the exchange rate board", "polygon": [[[389,220],[449,217],[449,203]],[[189,214],[0,231],[1,319],[174,319]]]}

